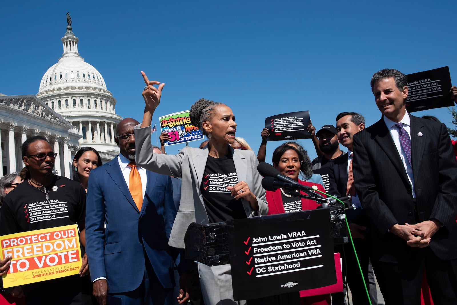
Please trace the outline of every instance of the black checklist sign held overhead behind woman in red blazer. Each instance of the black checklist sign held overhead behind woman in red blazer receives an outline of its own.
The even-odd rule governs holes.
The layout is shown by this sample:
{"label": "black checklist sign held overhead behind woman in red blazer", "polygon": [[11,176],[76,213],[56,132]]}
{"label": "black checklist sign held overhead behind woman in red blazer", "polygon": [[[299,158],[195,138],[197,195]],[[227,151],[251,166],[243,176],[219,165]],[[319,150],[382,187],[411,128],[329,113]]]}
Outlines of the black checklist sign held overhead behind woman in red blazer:
{"label": "black checklist sign held overhead behind woman in red blazer", "polygon": [[267,141],[281,141],[290,139],[308,139],[309,111],[297,111],[269,116],[265,119],[265,128],[270,136]]}

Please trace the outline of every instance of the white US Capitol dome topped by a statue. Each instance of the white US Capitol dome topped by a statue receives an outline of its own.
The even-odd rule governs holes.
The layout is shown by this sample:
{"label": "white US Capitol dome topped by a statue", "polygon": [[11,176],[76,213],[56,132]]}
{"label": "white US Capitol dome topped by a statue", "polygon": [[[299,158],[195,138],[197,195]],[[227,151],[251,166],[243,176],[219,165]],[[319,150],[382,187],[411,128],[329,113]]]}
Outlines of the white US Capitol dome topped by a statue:
{"label": "white US Capitol dome topped by a statue", "polygon": [[116,99],[100,72],[80,56],[69,16],[67,21],[61,39],[64,53],[43,75],[36,96],[74,126],[80,147],[94,147],[104,161],[111,160],[119,153],[114,138],[122,117],[116,114]]}

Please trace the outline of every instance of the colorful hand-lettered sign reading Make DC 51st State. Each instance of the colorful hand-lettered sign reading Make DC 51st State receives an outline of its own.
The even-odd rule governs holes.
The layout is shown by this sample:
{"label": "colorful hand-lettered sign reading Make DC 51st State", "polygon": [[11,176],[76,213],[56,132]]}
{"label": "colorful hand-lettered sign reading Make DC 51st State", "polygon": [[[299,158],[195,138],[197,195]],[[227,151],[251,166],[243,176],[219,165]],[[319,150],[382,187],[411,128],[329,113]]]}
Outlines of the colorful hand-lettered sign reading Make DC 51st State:
{"label": "colorful hand-lettered sign reading Make DC 51st State", "polygon": [[164,142],[165,146],[203,139],[200,128],[192,124],[189,111],[185,110],[159,117],[162,132],[168,132],[170,135],[170,141]]}

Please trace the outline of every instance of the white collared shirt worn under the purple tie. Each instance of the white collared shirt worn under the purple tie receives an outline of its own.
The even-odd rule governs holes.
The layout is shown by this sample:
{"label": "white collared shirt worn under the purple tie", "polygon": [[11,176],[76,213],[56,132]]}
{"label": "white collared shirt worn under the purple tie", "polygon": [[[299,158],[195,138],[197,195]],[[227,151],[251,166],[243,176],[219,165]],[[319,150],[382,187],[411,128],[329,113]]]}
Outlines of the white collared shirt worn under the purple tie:
{"label": "white collared shirt worn under the purple tie", "polygon": [[[413,168],[409,164],[408,157],[406,157],[406,153],[404,153],[403,147],[401,146],[400,131],[399,128],[395,126],[397,122],[394,122],[388,119],[386,116],[384,116],[384,123],[386,124],[390,132],[390,136],[392,137],[395,147],[397,147],[397,151],[403,163],[404,170],[406,171],[406,175],[408,176],[409,184],[411,184],[413,198],[416,198],[416,192],[414,191]],[[409,138],[411,139],[411,120],[409,119],[408,111],[405,111],[403,118],[398,123],[403,123],[403,128],[406,132],[408,132]]]}

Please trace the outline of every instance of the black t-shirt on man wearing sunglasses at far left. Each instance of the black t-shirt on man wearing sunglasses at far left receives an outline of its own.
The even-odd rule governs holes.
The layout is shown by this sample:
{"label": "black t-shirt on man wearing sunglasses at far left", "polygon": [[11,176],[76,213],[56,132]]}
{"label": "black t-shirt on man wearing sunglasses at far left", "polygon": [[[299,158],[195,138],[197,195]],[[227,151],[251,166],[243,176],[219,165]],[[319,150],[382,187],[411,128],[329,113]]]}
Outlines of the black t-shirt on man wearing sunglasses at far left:
{"label": "black t-shirt on man wearing sunglasses at far left", "polygon": [[[43,193],[44,189],[40,189],[26,180],[5,196],[0,218],[0,235],[76,223],[80,230],[84,229],[86,194],[79,182],[54,176],[53,182],[46,187],[49,200]],[[76,274],[27,284],[23,286],[23,290],[29,300],[42,300],[48,304],[70,304],[72,298],[81,291],[81,283],[79,274]]]}

